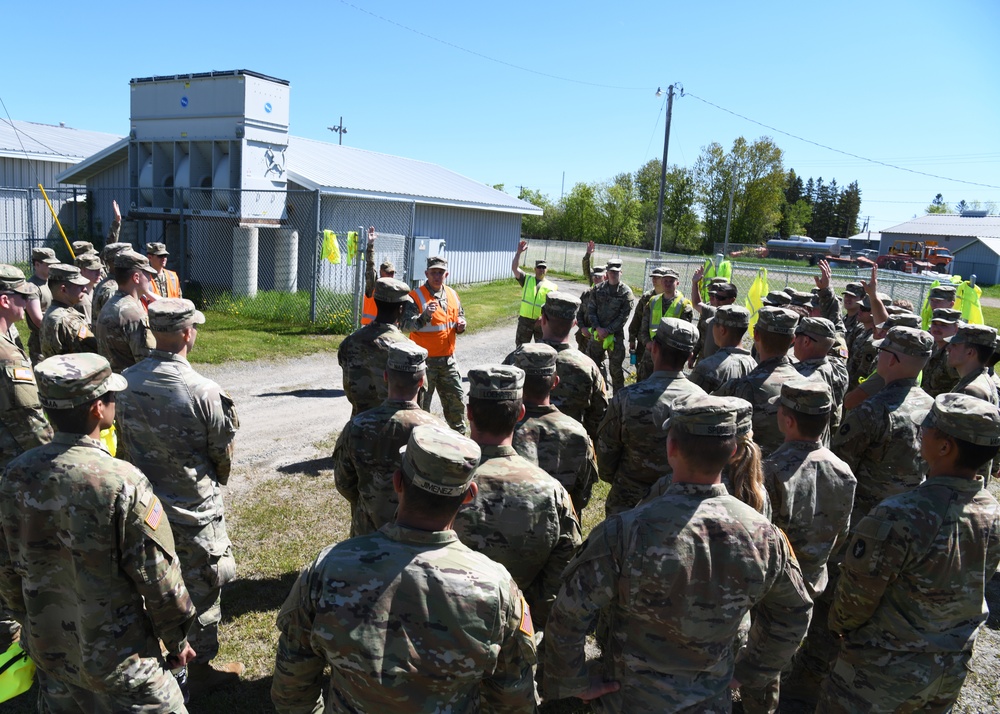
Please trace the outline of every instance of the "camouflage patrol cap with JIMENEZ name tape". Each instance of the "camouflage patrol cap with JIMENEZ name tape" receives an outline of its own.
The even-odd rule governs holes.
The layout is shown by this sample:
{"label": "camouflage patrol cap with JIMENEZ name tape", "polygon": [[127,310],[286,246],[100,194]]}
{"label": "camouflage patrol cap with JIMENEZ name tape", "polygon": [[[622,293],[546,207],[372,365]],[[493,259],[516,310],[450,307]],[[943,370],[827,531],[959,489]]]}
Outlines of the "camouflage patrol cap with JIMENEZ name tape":
{"label": "camouflage patrol cap with JIMENEZ name tape", "polygon": [[434,424],[414,427],[399,453],[410,482],[439,496],[464,494],[482,457],[472,439]]}

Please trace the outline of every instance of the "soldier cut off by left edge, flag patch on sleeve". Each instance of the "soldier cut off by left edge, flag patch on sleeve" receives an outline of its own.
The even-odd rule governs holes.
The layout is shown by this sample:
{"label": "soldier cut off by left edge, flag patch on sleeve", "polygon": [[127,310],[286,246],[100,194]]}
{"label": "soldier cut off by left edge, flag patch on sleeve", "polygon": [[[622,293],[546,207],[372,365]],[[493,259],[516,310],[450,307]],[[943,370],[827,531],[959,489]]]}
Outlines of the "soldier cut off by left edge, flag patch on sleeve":
{"label": "soldier cut off by left edge, flag patch on sleeve", "polygon": [[[34,290],[24,273],[13,265],[0,265],[0,469],[15,456],[52,440],[52,427],[42,414],[31,360],[10,338],[8,328],[24,318]],[[0,606],[0,653],[18,636],[20,626]]]}

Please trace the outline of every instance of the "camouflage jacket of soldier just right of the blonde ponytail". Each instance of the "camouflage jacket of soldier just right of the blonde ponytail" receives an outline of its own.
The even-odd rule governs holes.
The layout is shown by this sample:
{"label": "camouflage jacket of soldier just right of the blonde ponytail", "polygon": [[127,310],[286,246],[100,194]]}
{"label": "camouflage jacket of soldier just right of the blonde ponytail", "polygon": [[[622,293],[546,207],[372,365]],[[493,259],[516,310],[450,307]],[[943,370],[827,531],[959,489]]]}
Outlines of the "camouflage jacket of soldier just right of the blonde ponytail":
{"label": "camouflage jacket of soldier just right of the blonde ponytail", "polygon": [[827,561],[847,542],[858,481],[818,441],[786,441],[764,461],[771,522],[788,536],[813,599],[826,589]]}

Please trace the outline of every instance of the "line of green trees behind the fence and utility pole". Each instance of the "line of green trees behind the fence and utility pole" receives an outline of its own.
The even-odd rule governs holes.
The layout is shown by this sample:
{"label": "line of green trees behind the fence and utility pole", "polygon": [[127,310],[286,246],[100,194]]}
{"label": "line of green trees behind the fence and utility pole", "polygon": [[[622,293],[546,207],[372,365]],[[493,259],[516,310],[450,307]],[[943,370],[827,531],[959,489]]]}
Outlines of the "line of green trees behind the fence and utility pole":
{"label": "line of green trees behind the fence and utility pole", "polygon": [[[525,238],[595,241],[652,249],[660,192],[659,159],[632,173],[596,183],[578,183],[558,201],[530,188],[519,198],[543,210],[524,216]],[[503,190],[502,185],[494,188]],[[725,239],[733,194],[730,243],[760,244],[768,238],[805,234],[819,240],[857,232],[861,191],[857,182],[841,190],[836,180],[803,183],[785,171],[782,151],[769,138],[739,137],[727,152],[712,143],[692,168],[668,167],[663,200],[661,249],[707,253]]]}

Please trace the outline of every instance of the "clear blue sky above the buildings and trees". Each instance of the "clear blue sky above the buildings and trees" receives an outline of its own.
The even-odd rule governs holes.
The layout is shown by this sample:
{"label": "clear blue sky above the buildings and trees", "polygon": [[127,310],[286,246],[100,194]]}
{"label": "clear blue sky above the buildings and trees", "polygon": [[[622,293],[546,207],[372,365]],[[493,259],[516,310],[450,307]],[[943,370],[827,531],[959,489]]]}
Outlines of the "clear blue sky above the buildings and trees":
{"label": "clear blue sky above the buildings and trees", "polygon": [[[663,150],[772,137],[787,168],[857,180],[874,230],[936,193],[1000,204],[1000,2],[54,2],[5,8],[11,117],[124,135],[133,77],[291,82],[291,133],[558,199]],[[530,71],[529,71],[530,70]],[[931,178],[851,154],[967,183]]]}

